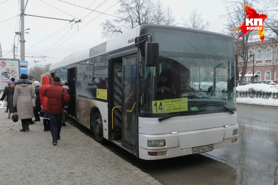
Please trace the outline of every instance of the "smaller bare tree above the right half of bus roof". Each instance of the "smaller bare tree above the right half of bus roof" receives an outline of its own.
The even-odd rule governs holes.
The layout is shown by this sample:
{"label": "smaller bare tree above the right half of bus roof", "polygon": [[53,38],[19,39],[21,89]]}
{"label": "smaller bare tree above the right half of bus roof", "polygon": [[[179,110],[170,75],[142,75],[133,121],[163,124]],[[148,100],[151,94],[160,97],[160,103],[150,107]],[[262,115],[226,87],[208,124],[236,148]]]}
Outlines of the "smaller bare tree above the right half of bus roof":
{"label": "smaller bare tree above the right half of bus roof", "polygon": [[202,14],[197,11],[197,8],[191,11],[188,21],[184,21],[184,26],[193,29],[208,29],[210,23],[209,21],[204,21],[202,19]]}

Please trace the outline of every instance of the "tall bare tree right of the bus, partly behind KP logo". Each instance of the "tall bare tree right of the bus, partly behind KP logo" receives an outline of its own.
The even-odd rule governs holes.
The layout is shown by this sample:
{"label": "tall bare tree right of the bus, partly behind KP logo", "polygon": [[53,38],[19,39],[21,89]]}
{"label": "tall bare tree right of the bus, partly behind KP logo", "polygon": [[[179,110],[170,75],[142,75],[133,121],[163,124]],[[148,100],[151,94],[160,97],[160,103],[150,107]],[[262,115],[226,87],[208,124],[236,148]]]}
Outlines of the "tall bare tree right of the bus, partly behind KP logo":
{"label": "tall bare tree right of the bus, partly behind KP logo", "polygon": [[[248,5],[252,7],[252,4],[258,2],[257,0],[237,0],[237,1],[224,1],[227,6],[227,24],[225,24],[226,33],[233,36],[235,39],[235,52],[236,54],[242,58],[244,61],[242,66],[242,76],[239,81],[239,85],[242,84],[244,75],[247,69],[247,62],[248,62],[248,43],[254,38],[254,35],[257,34],[256,32],[247,32],[245,35],[239,37],[239,32],[235,31],[234,29],[240,26],[246,19],[246,12],[243,5]],[[231,5],[232,4],[232,5]]]}

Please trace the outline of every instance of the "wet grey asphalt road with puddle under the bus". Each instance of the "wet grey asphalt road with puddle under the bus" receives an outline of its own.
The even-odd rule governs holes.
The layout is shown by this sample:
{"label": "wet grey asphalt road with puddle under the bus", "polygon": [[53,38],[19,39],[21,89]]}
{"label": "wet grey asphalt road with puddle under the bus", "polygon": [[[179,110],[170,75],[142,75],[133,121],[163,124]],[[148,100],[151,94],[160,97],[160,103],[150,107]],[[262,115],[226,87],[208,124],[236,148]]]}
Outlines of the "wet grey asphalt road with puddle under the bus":
{"label": "wet grey asphalt road with puddle under the bus", "polygon": [[111,143],[105,147],[164,185],[278,184],[278,109],[237,106],[237,115],[239,143],[232,147],[158,161],[137,159]]}

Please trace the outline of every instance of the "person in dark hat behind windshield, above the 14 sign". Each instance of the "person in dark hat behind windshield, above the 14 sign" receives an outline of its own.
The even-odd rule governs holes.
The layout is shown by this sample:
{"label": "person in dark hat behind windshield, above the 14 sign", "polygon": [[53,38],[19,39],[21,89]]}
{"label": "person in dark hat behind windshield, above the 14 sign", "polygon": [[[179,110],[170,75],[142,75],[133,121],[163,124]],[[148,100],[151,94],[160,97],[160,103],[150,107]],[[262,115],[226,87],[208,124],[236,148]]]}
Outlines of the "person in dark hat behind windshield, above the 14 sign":
{"label": "person in dark hat behind windshield, above the 14 sign", "polygon": [[176,94],[176,90],[168,78],[166,71],[160,73],[160,81],[157,83],[156,89],[158,99],[172,99]]}

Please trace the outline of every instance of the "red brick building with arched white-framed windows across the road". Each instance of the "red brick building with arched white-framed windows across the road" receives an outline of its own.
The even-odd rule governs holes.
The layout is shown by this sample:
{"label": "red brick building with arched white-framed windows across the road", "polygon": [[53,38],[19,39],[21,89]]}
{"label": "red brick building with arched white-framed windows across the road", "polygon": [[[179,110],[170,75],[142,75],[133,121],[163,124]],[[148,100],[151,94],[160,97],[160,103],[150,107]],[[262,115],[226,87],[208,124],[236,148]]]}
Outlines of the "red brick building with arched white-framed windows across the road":
{"label": "red brick building with arched white-framed windows across the road", "polygon": [[[276,73],[276,71],[278,70],[278,43],[275,41],[265,40],[264,43],[250,43],[248,48],[248,56],[255,53],[254,75],[257,74],[259,76],[258,81],[278,79],[278,74]],[[239,64],[239,74],[242,74],[242,57],[238,56],[237,61]],[[253,74],[253,57],[248,59],[246,74]],[[251,77],[246,77],[246,79],[247,81],[251,81]]]}

